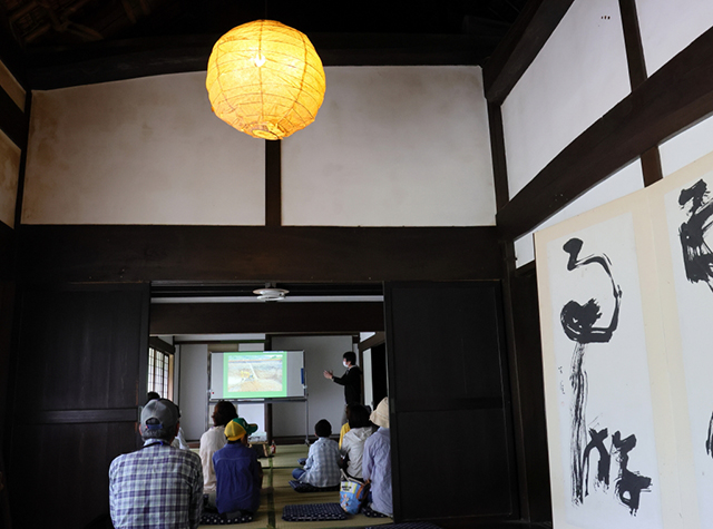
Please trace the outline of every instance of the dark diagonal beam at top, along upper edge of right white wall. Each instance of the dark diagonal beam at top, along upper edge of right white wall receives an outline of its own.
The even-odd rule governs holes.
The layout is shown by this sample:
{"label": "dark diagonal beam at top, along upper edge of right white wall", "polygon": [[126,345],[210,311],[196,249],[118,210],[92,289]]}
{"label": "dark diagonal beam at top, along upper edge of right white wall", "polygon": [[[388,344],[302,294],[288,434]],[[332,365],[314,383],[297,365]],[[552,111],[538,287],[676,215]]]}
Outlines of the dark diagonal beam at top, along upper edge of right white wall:
{"label": "dark diagonal beam at top, along upper edge of right white wall", "polygon": [[530,0],[482,68],[486,99],[500,104],[530,66],[574,0]]}

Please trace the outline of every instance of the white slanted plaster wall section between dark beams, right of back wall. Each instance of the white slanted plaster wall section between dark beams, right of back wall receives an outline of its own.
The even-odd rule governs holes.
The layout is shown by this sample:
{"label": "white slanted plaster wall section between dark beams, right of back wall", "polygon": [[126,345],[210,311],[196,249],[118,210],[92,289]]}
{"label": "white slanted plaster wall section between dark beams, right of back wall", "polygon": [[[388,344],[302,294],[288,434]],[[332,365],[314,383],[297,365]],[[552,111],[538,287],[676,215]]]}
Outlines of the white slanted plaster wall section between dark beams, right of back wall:
{"label": "white slanted plaster wall section between dark beams, right of back wall", "polygon": [[575,0],[502,105],[510,197],[631,91],[617,0]]}

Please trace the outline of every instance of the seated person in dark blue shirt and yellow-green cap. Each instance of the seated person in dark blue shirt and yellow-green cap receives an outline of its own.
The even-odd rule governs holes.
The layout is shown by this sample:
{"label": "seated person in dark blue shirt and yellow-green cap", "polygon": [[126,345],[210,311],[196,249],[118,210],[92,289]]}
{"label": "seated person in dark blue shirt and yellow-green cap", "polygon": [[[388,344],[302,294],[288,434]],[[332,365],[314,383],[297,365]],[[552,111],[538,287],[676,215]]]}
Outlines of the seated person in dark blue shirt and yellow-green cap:
{"label": "seated person in dark blue shirt and yellow-green cap", "polygon": [[260,507],[263,468],[247,447],[247,437],[255,430],[256,424],[233,419],[225,425],[227,444],[213,454],[216,489],[208,496],[208,506],[226,518],[253,515]]}

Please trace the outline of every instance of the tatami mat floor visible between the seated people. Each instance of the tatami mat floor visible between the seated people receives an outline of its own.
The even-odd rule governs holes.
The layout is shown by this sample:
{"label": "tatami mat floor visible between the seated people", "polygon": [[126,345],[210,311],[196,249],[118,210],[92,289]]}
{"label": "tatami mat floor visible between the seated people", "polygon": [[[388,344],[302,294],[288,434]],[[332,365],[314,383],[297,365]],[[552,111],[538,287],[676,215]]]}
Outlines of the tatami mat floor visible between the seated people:
{"label": "tatami mat floor visible between the seated people", "polygon": [[[292,470],[297,468],[297,459],[307,457],[306,444],[279,445],[272,458],[261,459],[265,478],[260,509],[250,523],[215,526],[241,529],[330,529],[346,527],[370,527],[392,523],[391,518],[368,518],[364,515],[348,515],[339,521],[284,521],[285,506],[297,503],[339,503],[339,492],[295,492],[290,487]],[[201,526],[214,527],[214,526]]]}

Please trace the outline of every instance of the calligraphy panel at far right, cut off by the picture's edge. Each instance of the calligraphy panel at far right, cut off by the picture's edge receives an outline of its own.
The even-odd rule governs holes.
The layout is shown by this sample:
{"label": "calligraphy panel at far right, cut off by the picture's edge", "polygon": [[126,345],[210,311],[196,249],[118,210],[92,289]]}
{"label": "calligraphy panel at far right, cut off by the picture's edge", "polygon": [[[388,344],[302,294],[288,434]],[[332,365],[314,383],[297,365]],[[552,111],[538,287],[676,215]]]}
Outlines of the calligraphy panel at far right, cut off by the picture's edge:
{"label": "calligraphy panel at far right, cut off by the picture's edge", "polygon": [[684,527],[713,527],[713,154],[646,189],[672,381]]}

